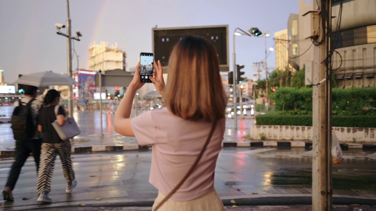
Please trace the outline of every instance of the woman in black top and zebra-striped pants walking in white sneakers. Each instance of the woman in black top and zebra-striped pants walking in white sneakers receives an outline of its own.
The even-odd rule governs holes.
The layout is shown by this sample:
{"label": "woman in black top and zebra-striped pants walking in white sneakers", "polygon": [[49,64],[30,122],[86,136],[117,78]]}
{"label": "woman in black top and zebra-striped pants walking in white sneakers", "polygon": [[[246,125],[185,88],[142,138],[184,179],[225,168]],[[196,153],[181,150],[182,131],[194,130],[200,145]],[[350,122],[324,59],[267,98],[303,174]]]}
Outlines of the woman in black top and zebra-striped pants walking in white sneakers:
{"label": "woman in black top and zebra-striped pants walking in white sneakers", "polygon": [[71,160],[71,143],[69,139],[62,140],[56,132],[53,123],[63,126],[68,121],[68,114],[59,105],[60,93],[49,90],[44,97],[44,107],[39,112],[38,130],[43,133],[41,161],[38,171],[38,202],[50,203],[52,199],[48,196],[51,190],[53,168],[56,155],[59,155],[63,167],[64,177],[67,181],[66,193],[71,193],[77,185],[74,176]]}

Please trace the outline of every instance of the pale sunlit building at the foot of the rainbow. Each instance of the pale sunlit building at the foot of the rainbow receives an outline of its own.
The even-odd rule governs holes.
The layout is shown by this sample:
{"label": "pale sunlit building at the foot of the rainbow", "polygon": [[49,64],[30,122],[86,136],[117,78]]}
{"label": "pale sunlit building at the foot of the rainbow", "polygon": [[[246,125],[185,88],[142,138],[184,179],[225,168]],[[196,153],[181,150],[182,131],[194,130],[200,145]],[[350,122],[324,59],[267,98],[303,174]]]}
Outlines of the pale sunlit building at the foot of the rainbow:
{"label": "pale sunlit building at the foot of the rainbow", "polygon": [[119,50],[117,43],[115,45],[108,46],[108,42],[95,42],[89,47],[89,62],[88,69],[92,71],[104,71],[107,70],[123,69],[126,70],[126,53],[125,49]]}

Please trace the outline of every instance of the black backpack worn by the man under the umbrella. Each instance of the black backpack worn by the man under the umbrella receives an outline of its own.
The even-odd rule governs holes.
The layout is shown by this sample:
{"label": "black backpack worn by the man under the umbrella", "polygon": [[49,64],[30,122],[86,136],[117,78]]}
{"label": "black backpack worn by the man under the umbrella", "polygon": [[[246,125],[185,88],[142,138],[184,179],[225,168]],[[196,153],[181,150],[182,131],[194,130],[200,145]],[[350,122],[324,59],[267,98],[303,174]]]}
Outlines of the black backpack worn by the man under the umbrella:
{"label": "black backpack worn by the man under the umbrella", "polygon": [[[15,140],[25,141],[30,140],[35,134],[36,125],[33,122],[33,110],[31,103],[35,99],[31,99],[27,104],[19,101],[19,105],[15,107],[11,124],[13,130],[13,136]],[[26,105],[24,105],[26,104]]]}

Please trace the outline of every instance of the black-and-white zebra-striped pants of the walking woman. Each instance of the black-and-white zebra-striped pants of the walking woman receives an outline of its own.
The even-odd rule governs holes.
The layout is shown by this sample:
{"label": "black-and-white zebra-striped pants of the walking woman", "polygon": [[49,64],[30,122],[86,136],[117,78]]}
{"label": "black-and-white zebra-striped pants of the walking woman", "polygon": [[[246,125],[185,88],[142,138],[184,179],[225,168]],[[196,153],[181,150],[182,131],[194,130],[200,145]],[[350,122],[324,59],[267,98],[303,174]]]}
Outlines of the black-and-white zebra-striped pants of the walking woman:
{"label": "black-and-white zebra-striped pants of the walking woman", "polygon": [[71,160],[70,141],[61,143],[42,143],[41,161],[39,163],[37,193],[49,193],[51,190],[51,180],[53,168],[55,166],[56,155],[59,154],[63,167],[64,177],[67,183],[73,182],[74,172]]}

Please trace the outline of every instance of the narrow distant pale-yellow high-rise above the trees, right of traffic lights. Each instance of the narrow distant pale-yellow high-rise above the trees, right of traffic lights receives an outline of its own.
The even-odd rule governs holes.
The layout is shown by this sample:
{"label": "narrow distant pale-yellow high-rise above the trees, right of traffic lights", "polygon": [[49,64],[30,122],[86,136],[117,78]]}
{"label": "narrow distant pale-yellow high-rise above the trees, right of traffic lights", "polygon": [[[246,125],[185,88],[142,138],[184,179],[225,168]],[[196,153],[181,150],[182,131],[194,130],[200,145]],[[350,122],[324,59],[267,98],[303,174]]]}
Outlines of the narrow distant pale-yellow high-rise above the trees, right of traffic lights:
{"label": "narrow distant pale-yellow high-rise above the trees, right of traffic lights", "polygon": [[288,67],[287,29],[274,33],[276,69],[286,70]]}

